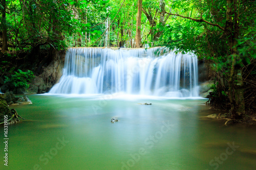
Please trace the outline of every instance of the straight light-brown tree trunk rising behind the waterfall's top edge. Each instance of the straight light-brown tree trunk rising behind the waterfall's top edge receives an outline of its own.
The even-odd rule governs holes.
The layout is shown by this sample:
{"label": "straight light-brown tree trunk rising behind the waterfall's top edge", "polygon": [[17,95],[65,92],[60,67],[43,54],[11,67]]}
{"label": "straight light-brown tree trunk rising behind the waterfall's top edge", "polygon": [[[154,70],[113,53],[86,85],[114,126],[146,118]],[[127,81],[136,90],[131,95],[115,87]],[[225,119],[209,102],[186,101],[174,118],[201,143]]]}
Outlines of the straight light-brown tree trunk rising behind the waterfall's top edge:
{"label": "straight light-brown tree trunk rising behind the waterfall's top edge", "polygon": [[141,13],[142,13],[142,0],[138,0],[138,12],[137,12],[137,22],[136,22],[136,48],[141,45]]}

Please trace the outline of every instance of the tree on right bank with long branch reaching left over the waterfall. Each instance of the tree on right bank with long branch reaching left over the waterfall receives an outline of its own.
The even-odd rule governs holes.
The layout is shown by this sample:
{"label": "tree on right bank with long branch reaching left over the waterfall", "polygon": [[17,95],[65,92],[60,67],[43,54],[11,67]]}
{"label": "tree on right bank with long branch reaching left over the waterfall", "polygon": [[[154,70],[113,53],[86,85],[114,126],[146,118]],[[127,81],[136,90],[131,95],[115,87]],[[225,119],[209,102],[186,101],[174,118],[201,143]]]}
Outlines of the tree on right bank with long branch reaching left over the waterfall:
{"label": "tree on right bank with long branch reaching left over the waterfall", "polygon": [[[192,1],[194,2],[194,1]],[[243,87],[243,66],[242,66],[242,58],[238,53],[238,40],[241,39],[241,35],[244,34],[244,30],[241,28],[245,28],[245,22],[247,19],[255,19],[255,16],[248,17],[248,11],[251,9],[251,12],[255,13],[253,10],[252,2],[238,1],[238,0],[227,0],[226,5],[224,5],[225,13],[222,11],[223,7],[214,6],[210,1],[205,2],[207,4],[196,4],[195,6],[201,10],[200,18],[191,17],[193,13],[193,8],[191,9],[190,16],[184,16],[180,14],[168,13],[169,15],[178,16],[186,19],[190,19],[196,22],[200,22],[204,25],[204,27],[214,26],[222,32],[221,36],[225,37],[228,44],[228,60],[227,66],[230,67],[229,70],[229,78],[228,78],[228,96],[230,102],[230,113],[233,117],[243,116],[245,113],[245,102],[244,102],[244,87]],[[215,2],[218,3],[218,2]],[[202,5],[202,6],[200,6]],[[204,7],[204,5],[206,7]],[[255,7],[255,6],[254,6]],[[189,7],[188,7],[189,8]],[[215,9],[212,9],[215,8]],[[211,11],[211,15],[206,13],[206,10]],[[219,13],[217,12],[219,9]],[[245,12],[246,11],[246,12]],[[224,19],[224,15],[226,16]],[[197,15],[198,16],[198,15]],[[208,21],[207,19],[211,19]],[[216,17],[217,16],[217,17]],[[220,18],[223,19],[220,19]],[[214,21],[218,21],[216,23]],[[224,20],[225,22],[223,22]],[[212,22],[213,21],[213,22]],[[205,25],[206,24],[206,25]],[[218,31],[218,30],[217,30]],[[218,31],[218,32],[219,32]],[[230,59],[230,60],[229,60]]]}

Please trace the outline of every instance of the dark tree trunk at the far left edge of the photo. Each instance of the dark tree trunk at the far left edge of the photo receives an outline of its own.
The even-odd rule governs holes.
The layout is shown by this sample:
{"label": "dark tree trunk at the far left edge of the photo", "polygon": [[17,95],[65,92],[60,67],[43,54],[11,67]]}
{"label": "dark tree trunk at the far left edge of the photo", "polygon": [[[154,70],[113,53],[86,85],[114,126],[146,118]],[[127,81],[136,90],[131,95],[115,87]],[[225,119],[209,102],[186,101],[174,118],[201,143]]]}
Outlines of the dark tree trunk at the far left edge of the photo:
{"label": "dark tree trunk at the far left edge of the photo", "polygon": [[8,51],[8,46],[7,46],[7,26],[6,26],[6,0],[2,0],[2,6],[4,9],[2,9],[2,25],[3,25],[3,38],[2,38],[2,52],[5,53]]}

